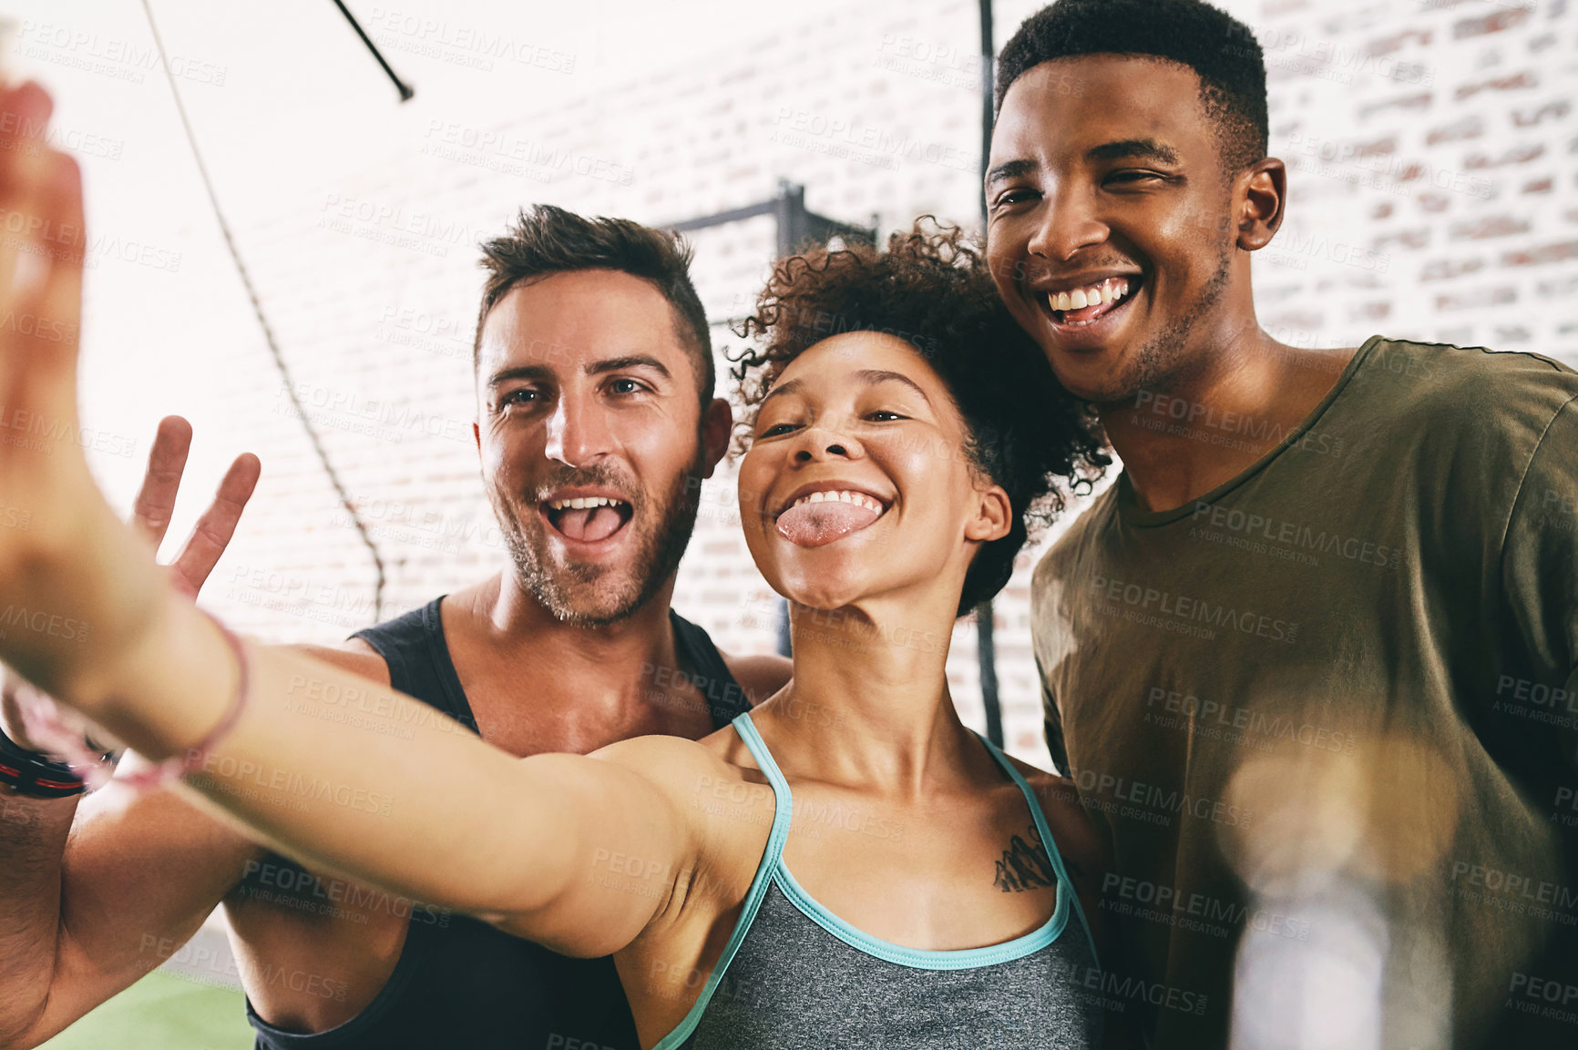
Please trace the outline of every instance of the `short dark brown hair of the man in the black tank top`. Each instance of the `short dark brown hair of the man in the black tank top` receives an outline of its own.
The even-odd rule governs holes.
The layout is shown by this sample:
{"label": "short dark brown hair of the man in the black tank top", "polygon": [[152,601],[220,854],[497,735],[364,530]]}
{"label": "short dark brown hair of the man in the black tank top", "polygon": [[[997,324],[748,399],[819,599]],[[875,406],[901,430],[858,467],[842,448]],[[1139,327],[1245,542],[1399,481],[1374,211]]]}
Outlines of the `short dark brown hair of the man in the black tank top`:
{"label": "short dark brown hair of the man in the black tank top", "polygon": [[522,282],[574,270],[617,270],[650,281],[674,307],[674,328],[690,348],[702,410],[712,402],[716,375],[712,330],[696,285],[690,279],[691,248],[672,230],[655,230],[630,219],[587,219],[554,205],[522,208],[503,236],[483,241],[488,271],[483,306],[477,315],[472,367],[483,345],[483,325],[499,300]]}

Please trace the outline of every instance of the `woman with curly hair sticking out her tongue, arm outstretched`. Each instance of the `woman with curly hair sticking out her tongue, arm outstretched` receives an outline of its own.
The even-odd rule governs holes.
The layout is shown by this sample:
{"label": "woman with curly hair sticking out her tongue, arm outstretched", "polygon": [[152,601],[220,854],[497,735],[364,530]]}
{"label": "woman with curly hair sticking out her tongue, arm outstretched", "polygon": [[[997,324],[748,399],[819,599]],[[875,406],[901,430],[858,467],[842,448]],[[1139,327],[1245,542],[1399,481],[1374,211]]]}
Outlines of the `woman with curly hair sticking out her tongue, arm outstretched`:
{"label": "woman with curly hair sticking out her tongue, arm outstretched", "polygon": [[[186,755],[183,790],[295,858],[612,954],[644,1047],[1094,1047],[1098,837],[1065,780],[963,725],[945,667],[955,620],[1105,465],[1089,418],[978,249],[934,224],[884,252],[781,262],[745,334],[740,517],[789,599],[794,678],[712,736],[514,760],[443,716],[357,747],[305,732],[301,683],[402,702],[216,631],[139,569],[92,481],[60,481],[85,464],[3,449],[8,495],[82,525],[8,541],[0,590],[106,642],[17,632],[0,657],[144,754]],[[13,342],[0,374],[28,370],[28,404],[65,404],[71,370]],[[155,626],[117,629],[128,609]],[[193,747],[273,780],[193,774]],[[292,776],[347,801],[278,804],[265,788]]]}

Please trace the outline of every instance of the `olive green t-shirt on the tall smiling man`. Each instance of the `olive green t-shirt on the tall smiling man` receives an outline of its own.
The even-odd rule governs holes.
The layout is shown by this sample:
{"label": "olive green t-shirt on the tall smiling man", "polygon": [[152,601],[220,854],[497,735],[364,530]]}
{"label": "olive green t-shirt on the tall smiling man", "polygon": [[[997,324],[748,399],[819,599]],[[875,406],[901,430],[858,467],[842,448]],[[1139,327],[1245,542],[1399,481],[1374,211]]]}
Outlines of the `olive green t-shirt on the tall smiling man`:
{"label": "olive green t-shirt on the tall smiling man", "polygon": [[1575,399],[1373,337],[1242,475],[1165,512],[1119,476],[1037,566],[1048,743],[1112,847],[1103,992],[1155,1047],[1578,1045]]}

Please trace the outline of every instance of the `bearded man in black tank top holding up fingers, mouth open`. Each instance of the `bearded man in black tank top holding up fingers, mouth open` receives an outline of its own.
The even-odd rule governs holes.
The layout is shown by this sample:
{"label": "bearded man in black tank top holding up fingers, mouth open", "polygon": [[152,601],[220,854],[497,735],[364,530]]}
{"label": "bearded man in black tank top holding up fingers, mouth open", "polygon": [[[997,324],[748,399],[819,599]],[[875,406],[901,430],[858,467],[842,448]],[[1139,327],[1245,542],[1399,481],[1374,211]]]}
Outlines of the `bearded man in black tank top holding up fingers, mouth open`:
{"label": "bearded man in black tank top holding up fingers, mouth open", "polygon": [[[551,207],[483,251],[475,435],[511,566],[311,651],[514,755],[704,736],[775,692],[789,664],[724,657],[669,609],[699,482],[732,427],[713,397],[690,252],[667,233]],[[155,539],[188,437],[167,421],[150,459],[137,516]],[[232,527],[251,487],[237,500],[234,481],[216,506]],[[191,547],[207,550],[183,553],[183,571],[202,563],[194,583],[227,534],[200,530]],[[305,700],[339,717],[330,698]],[[17,746],[35,746],[14,705],[3,720]],[[0,1045],[54,1036],[174,954],[221,902],[262,1048],[638,1045],[606,959],[565,959],[306,872],[169,790],[112,784],[80,820],[80,795],[0,791]]]}

